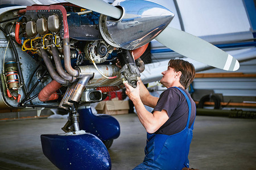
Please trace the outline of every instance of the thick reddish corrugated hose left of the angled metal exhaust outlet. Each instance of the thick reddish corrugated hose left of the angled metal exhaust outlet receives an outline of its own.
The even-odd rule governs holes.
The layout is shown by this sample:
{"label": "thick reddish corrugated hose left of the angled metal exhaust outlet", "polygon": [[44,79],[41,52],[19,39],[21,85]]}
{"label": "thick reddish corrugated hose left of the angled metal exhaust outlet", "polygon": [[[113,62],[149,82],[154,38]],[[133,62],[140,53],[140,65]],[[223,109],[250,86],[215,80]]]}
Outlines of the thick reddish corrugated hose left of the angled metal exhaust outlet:
{"label": "thick reddish corrugated hose left of the angled metal exhaust outlet", "polygon": [[62,85],[55,80],[52,80],[51,83],[47,84],[46,87],[43,88],[39,92],[38,99],[40,101],[49,101],[49,100],[56,100],[58,99],[59,95],[55,94],[57,90],[60,89]]}

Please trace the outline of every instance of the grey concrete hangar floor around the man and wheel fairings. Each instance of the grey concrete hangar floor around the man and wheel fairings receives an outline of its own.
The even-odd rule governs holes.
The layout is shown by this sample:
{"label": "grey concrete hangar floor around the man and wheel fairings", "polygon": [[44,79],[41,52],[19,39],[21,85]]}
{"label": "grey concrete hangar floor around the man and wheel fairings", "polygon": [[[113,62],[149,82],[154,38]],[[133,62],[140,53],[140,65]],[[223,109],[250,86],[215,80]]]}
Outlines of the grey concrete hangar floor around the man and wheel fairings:
{"label": "grey concrete hangar floor around the man and wheel fairings", "polygon": [[[146,131],[136,114],[114,116],[121,135],[109,149],[112,169],[142,162]],[[57,169],[43,155],[40,134],[63,133],[65,119],[1,121],[0,169]],[[189,152],[192,168],[256,169],[256,120],[197,116]]]}

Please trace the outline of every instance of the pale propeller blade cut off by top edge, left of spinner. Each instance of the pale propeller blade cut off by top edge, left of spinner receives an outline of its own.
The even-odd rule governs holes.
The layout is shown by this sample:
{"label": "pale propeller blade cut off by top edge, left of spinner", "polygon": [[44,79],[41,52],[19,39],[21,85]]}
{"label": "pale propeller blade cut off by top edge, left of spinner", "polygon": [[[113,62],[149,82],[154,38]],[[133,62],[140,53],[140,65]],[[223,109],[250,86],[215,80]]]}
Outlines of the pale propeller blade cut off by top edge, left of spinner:
{"label": "pale propeller blade cut off by top edge, left of spinner", "polygon": [[86,9],[111,16],[115,19],[119,19],[122,16],[122,10],[106,3],[102,0],[67,0],[70,3],[73,3],[77,6],[84,7]]}

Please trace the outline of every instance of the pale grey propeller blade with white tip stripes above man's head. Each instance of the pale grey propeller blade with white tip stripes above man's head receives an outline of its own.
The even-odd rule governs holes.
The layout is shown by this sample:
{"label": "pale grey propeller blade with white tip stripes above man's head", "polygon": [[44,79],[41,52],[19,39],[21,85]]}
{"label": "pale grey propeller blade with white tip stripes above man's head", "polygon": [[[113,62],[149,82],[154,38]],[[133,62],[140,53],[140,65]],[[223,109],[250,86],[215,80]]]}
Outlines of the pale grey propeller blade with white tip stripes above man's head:
{"label": "pale grey propeller blade with white tip stripes above man's head", "polygon": [[185,57],[219,69],[236,71],[240,67],[237,59],[228,53],[179,29],[166,27],[155,39]]}

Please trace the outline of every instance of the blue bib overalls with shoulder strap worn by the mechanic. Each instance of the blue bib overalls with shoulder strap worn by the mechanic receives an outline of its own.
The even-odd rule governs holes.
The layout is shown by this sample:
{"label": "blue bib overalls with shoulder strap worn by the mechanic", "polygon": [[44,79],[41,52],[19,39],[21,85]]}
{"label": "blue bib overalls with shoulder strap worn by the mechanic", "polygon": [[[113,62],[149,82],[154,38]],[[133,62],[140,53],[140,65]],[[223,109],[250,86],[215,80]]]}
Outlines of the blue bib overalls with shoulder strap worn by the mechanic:
{"label": "blue bib overalls with shoulder strap worn by the mechanic", "polygon": [[173,135],[148,134],[143,163],[134,169],[182,169],[189,167],[188,152],[193,137],[193,122],[189,127],[191,117],[191,102],[183,90],[182,92],[188,103],[188,120],[185,129]]}

